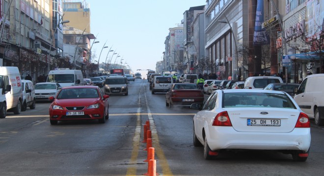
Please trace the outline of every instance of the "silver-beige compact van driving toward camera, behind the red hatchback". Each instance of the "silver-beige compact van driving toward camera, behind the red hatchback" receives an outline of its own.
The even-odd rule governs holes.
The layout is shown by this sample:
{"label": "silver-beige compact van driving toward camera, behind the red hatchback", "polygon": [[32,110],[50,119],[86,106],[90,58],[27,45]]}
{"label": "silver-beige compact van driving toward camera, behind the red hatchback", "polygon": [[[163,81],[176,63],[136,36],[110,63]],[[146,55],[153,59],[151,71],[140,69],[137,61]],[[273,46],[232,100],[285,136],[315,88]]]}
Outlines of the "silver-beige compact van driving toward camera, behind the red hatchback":
{"label": "silver-beige compact van driving toward camera, behind the red hatchback", "polygon": [[105,94],[128,95],[128,81],[125,76],[109,76],[105,80]]}

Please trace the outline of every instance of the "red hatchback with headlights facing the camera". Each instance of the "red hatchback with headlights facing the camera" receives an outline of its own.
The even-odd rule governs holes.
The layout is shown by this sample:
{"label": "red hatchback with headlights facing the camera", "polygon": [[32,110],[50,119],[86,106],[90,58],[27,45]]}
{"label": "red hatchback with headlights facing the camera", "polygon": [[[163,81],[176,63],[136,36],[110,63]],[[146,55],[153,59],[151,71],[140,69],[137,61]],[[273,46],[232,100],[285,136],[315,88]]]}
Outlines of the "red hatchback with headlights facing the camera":
{"label": "red hatchback with headlights facing the camera", "polygon": [[97,86],[72,86],[62,88],[50,106],[50,122],[56,125],[63,120],[98,119],[105,123],[109,118],[108,98]]}

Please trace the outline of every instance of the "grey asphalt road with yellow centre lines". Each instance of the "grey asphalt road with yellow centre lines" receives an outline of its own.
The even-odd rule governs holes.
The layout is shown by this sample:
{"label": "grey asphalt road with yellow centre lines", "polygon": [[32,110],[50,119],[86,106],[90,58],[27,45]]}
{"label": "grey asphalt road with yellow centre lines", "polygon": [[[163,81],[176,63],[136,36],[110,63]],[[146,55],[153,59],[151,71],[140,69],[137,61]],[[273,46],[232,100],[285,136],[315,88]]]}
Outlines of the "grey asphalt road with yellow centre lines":
{"label": "grey asphalt road with yellow centre lines", "polygon": [[[207,98],[208,95],[206,95]],[[203,158],[192,145],[189,107],[165,106],[163,93],[151,94],[147,80],[129,84],[129,95],[109,97],[109,120],[50,125],[49,102],[0,119],[0,176],[140,176],[147,173],[143,124],[150,121],[160,176],[318,176],[324,164],[324,127],[311,121],[306,162],[290,154],[225,152]]]}

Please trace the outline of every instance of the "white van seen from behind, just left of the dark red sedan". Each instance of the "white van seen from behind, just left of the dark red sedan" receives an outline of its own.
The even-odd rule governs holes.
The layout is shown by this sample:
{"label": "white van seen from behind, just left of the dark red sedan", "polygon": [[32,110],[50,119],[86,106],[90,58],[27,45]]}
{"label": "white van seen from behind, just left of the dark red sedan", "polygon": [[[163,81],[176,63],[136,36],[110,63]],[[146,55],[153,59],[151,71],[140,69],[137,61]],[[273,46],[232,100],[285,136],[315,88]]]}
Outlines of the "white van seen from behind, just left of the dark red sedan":
{"label": "white van seen from behind, just left of the dark red sedan", "polygon": [[156,92],[167,92],[172,84],[173,79],[171,76],[154,76],[152,82],[152,94]]}

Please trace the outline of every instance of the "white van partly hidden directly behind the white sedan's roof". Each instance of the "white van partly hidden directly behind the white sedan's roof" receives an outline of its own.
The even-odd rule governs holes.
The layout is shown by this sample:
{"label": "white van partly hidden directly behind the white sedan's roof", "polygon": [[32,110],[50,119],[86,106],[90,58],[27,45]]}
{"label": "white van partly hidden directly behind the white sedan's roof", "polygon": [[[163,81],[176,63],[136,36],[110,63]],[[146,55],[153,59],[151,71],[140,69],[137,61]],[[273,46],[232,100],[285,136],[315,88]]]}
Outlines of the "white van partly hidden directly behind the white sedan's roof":
{"label": "white van partly hidden directly behind the white sedan's roof", "polygon": [[270,83],[283,83],[279,76],[251,76],[246,78],[244,88],[263,89]]}

